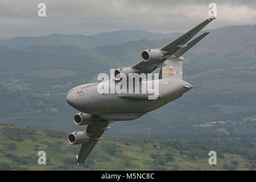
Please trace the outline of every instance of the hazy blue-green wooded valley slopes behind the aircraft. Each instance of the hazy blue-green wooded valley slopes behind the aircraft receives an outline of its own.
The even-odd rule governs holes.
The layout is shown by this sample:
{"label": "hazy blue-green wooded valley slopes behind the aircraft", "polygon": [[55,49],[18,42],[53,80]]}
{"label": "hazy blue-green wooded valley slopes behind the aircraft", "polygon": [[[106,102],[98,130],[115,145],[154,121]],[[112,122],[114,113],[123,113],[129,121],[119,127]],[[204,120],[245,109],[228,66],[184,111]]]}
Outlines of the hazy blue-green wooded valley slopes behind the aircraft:
{"label": "hazy blue-green wooded valley slopes behind the aircraft", "polygon": [[[115,33],[122,31],[106,35],[113,37]],[[59,39],[62,42],[69,37],[53,37],[57,36],[63,36],[63,40]],[[72,41],[73,36],[79,35],[71,35]],[[96,37],[93,39],[94,45],[103,40]],[[118,45],[92,49],[73,44],[35,45],[17,49],[3,44],[0,47],[0,93],[5,97],[0,98],[0,122],[40,129],[79,131],[81,127],[72,122],[73,114],[77,111],[65,102],[69,89],[95,81],[98,73],[109,73],[110,68],[133,65],[141,60],[143,49],[163,47],[176,37],[129,39]],[[13,43],[21,44],[20,39],[27,38],[16,39],[19,41]],[[158,139],[226,134],[255,137],[256,122],[243,121],[248,118],[249,121],[256,121],[256,26],[210,30],[210,34],[184,57],[184,80],[195,88],[134,122],[113,123],[108,133]],[[201,127],[212,121],[224,121],[225,124]]]}

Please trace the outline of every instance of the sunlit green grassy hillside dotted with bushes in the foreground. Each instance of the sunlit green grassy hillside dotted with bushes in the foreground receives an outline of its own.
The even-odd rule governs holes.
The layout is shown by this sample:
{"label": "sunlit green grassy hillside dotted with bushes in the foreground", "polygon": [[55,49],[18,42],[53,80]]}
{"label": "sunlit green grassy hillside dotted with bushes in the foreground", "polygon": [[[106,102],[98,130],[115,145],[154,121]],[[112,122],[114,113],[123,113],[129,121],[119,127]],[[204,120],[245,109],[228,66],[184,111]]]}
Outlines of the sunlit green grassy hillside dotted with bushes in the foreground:
{"label": "sunlit green grassy hillside dotted with bushes in the foreground", "polygon": [[[67,142],[67,132],[0,125],[1,170],[250,170],[255,167],[253,148],[230,148],[221,140],[199,144],[193,140],[163,140],[104,135],[85,163],[77,166],[80,146]],[[212,143],[212,141],[209,141]],[[217,164],[208,163],[216,150]],[[46,152],[46,165],[38,152]],[[238,155],[240,154],[240,155]]]}

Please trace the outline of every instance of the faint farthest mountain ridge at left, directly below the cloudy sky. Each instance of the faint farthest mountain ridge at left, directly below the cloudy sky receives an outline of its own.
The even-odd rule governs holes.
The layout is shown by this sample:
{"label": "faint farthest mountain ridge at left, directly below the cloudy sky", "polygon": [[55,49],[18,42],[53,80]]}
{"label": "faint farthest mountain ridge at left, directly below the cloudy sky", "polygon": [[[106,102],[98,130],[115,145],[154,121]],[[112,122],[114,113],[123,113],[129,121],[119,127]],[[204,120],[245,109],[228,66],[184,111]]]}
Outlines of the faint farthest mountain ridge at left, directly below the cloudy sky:
{"label": "faint farthest mountain ridge at left, directly below the cloudy sky", "polygon": [[46,36],[22,36],[9,40],[0,40],[0,46],[24,48],[34,45],[72,45],[80,48],[93,48],[96,46],[116,45],[131,40],[140,39],[164,39],[179,33],[161,34],[142,30],[120,30],[96,35],[63,35],[50,34]]}

